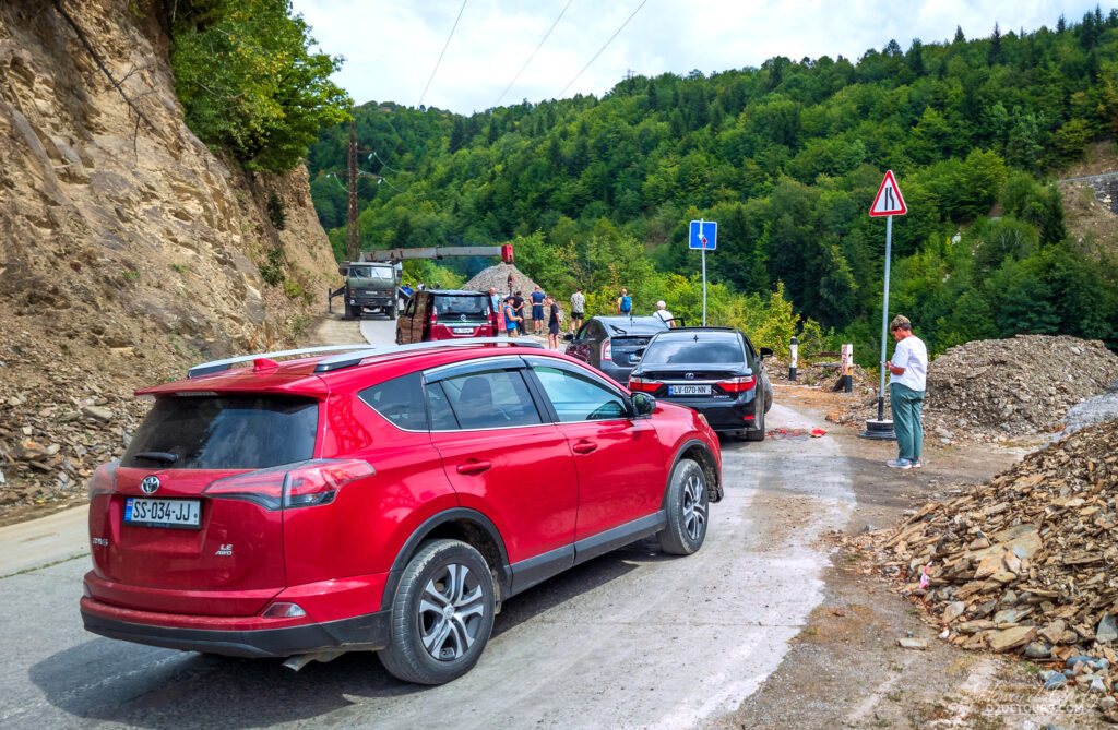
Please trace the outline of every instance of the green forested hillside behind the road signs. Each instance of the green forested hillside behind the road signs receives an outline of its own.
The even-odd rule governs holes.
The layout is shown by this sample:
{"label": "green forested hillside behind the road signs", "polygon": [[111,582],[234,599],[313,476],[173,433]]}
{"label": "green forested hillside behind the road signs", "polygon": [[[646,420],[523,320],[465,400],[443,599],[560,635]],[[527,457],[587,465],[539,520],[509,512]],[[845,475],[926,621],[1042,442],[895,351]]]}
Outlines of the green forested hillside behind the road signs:
{"label": "green forested hillside behind the road signs", "polygon": [[[366,248],[513,239],[559,294],[582,283],[605,306],[627,285],[638,309],[693,315],[686,224],[703,217],[719,222],[716,319],[748,323],[783,283],[796,313],[873,360],[885,226],[866,211],[892,169],[910,212],[894,220],[890,310],[934,350],[1016,332],[1118,341],[1114,241],[1069,237],[1049,182],[1118,131],[1116,10],[472,116],[369,103],[357,125],[375,152],[362,168],[386,178],[361,182]],[[347,133],[310,157],[339,253]]]}

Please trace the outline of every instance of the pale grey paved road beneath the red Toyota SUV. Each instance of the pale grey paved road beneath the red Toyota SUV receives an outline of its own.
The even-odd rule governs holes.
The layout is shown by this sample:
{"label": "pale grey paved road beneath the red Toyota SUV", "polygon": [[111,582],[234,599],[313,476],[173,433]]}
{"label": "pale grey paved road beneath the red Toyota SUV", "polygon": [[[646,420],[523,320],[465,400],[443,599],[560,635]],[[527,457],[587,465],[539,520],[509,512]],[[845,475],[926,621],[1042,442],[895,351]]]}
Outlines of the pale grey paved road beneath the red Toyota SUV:
{"label": "pale grey paved road beneath the red Toyota SUV", "polygon": [[[361,326],[372,341],[390,331]],[[779,404],[768,424],[814,425]],[[87,557],[8,576],[0,728],[704,724],[779,665],[821,600],[819,538],[854,499],[836,444],[724,443],[727,495],[702,550],[672,558],[636,543],[508,600],[479,665],[439,688],[401,683],[368,654],[295,673],[86,634]]]}

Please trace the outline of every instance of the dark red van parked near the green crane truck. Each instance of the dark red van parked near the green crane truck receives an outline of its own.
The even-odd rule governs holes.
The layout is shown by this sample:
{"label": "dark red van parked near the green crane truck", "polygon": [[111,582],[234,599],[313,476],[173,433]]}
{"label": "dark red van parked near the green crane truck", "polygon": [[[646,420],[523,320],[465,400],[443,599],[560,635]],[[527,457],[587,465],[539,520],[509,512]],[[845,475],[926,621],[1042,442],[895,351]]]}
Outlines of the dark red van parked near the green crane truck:
{"label": "dark red van parked near the green crane truck", "polygon": [[396,343],[496,336],[489,294],[465,290],[416,292],[396,319]]}

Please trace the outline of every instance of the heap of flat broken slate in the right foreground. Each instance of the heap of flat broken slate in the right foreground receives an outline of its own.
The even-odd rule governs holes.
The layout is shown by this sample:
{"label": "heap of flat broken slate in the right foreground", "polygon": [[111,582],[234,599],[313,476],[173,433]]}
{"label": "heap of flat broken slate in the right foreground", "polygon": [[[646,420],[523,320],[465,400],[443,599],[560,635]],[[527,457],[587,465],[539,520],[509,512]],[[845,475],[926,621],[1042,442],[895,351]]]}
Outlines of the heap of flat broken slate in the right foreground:
{"label": "heap of flat broken slate in the right foreground", "polygon": [[[1059,661],[1052,682],[1118,689],[1118,420],[1089,426],[987,484],[852,538],[940,635]],[[1057,675],[1062,679],[1055,679]]]}

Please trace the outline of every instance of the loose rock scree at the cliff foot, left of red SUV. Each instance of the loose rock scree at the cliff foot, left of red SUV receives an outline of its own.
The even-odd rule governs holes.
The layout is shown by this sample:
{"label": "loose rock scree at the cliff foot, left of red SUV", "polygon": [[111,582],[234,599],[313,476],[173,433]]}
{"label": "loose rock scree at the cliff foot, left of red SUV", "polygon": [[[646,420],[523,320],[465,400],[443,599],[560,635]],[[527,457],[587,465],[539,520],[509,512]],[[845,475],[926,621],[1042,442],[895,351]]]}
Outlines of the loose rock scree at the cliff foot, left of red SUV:
{"label": "loose rock scree at the cliff foot, left of red SUV", "polygon": [[84,350],[0,333],[0,521],[85,499],[101,463],[120,456],[150,404],[139,387],[181,377],[134,348]]}

